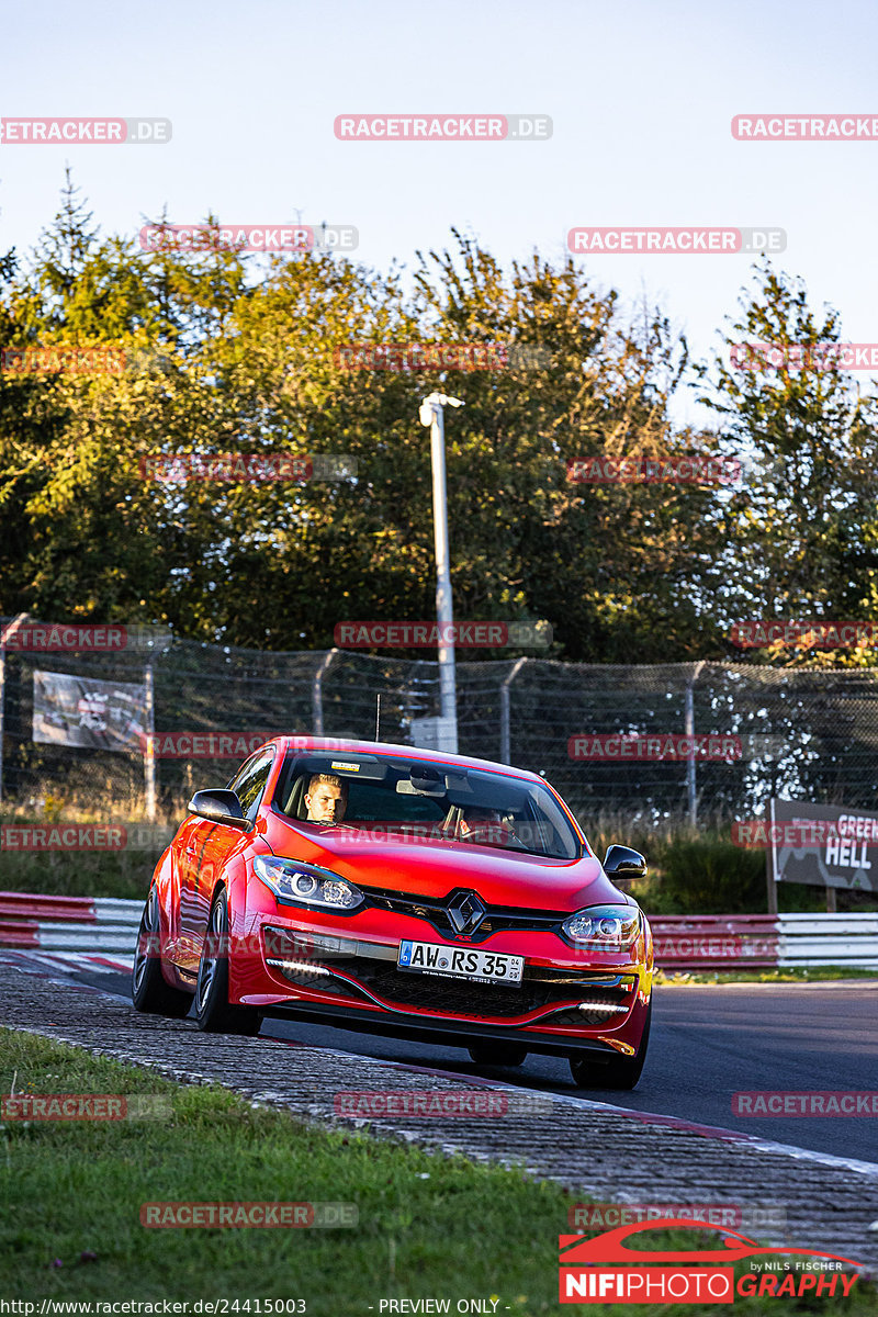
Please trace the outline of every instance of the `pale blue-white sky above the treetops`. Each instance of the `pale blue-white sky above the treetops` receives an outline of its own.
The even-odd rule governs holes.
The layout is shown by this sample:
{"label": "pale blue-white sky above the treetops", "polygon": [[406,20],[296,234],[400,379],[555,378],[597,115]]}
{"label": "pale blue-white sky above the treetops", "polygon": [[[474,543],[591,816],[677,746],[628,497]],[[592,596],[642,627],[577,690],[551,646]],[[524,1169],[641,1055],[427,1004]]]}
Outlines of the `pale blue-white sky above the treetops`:
{"label": "pale blue-white sky above the treetops", "polygon": [[[873,115],[878,7],[737,0],[30,0],[3,13],[0,116],[142,116],[162,145],[0,142],[0,253],[26,253],[65,165],[104,233],[353,225],[411,267],[452,227],[504,263],[561,261],[575,227],[777,227],[778,267],[842,336],[878,342],[878,140],[736,141],[736,115]],[[341,141],[338,115],[546,115],[530,141]],[[694,354],[752,279],[733,253],[578,255],[625,307],[658,302]],[[875,371],[878,374],[878,371]],[[864,383],[866,378],[864,377]],[[681,404],[678,419],[698,419]]]}

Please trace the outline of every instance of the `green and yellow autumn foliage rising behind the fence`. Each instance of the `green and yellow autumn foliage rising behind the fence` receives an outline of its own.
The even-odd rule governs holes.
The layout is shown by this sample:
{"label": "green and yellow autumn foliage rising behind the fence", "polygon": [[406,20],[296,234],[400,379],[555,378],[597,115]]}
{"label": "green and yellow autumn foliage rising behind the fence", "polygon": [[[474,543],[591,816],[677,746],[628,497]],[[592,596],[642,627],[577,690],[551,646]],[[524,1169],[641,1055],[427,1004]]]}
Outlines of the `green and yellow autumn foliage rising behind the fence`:
{"label": "green and yellow autumn foliage rising behind the fence", "polygon": [[[658,662],[727,657],[741,618],[866,618],[877,602],[874,399],[839,371],[696,369],[658,308],[627,320],[571,259],[504,270],[457,232],[411,271],[145,253],[101,236],[67,175],[34,253],[0,273],[1,345],[128,354],[118,375],[0,373],[0,614],[171,623],[266,649],[326,648],[345,619],[432,616],[417,412],[437,386],[466,403],[446,427],[458,618],[545,619],[558,658]],[[732,328],[840,331],[770,266]],[[363,341],[512,344],[545,365],[346,369],[334,349]],[[673,420],[695,377],[716,431]],[[155,452],[344,453],[358,474],[145,479]],[[756,478],[566,478],[575,457],[720,453],[749,454]]]}

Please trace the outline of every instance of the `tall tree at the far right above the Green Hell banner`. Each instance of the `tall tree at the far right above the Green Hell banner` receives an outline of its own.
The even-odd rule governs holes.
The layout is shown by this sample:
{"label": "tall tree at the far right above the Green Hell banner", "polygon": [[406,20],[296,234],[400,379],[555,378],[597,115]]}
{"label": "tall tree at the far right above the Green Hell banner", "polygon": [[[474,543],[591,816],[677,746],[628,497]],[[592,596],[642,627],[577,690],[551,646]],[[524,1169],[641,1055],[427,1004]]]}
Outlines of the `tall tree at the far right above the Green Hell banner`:
{"label": "tall tree at the far right above the Green Hell banner", "polygon": [[[738,353],[745,369],[716,358],[716,385],[703,396],[723,419],[727,450],[753,462],[750,481],[719,519],[725,582],[717,622],[871,618],[877,399],[820,348],[841,341],[835,309],[812,311],[803,282],[770,262],[756,279],[725,342],[770,345],[782,363],[770,365],[765,349]],[[803,350],[811,363],[795,365],[806,361]],[[707,382],[707,369],[702,378]],[[858,661],[874,658],[864,652]]]}

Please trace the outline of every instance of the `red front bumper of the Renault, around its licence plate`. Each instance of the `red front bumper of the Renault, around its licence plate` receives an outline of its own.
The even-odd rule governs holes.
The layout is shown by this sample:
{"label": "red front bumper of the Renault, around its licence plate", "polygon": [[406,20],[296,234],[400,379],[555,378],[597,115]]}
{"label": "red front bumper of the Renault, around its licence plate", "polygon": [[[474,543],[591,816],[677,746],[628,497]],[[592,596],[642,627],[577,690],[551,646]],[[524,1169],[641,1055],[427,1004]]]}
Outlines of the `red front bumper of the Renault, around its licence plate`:
{"label": "red front bumper of the Renault, around its licence plate", "polygon": [[[505,986],[399,969],[399,938],[354,936],[349,923],[332,930],[304,927],[283,914],[261,921],[262,964],[251,957],[245,981],[233,976],[234,1000],[266,1015],[323,1019],[396,1036],[457,1039],[457,1046],[515,1039],[530,1051],[558,1055],[632,1056],[640,1044],[652,990],[652,964],[642,946],[586,960],[557,938],[549,943],[546,934],[527,942],[521,935],[504,938],[498,951],[525,957],[521,985]],[[405,928],[400,936],[454,947],[432,930],[425,938],[423,927]]]}

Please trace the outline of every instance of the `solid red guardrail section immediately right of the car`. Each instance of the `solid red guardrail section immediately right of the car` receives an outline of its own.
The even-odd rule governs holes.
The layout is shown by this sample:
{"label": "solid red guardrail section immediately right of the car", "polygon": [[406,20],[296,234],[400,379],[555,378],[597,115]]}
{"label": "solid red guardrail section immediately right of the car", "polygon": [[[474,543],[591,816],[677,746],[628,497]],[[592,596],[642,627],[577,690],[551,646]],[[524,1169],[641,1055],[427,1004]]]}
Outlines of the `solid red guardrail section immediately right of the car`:
{"label": "solid red guardrail section immediately right of the car", "polygon": [[774,969],[778,925],[769,914],[656,915],[659,969]]}

